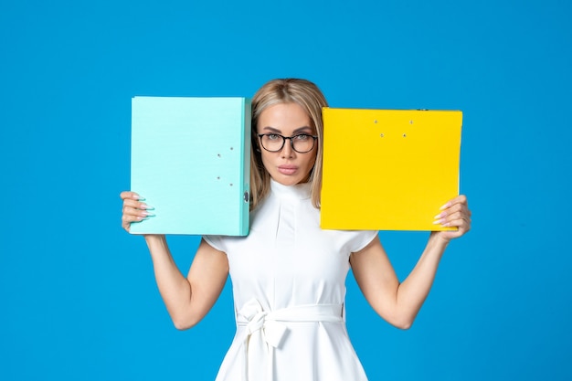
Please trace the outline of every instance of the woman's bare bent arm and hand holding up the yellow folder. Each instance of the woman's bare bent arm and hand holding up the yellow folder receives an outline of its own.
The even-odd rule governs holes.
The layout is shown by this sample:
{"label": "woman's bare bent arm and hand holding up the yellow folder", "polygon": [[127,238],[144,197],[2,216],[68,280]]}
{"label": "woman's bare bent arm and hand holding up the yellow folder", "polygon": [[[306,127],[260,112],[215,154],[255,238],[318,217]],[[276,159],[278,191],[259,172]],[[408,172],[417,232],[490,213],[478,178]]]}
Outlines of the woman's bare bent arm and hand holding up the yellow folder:
{"label": "woman's bare bent arm and hand holding up the yellow folder", "polygon": [[443,226],[455,231],[432,232],[429,242],[406,280],[399,282],[379,238],[350,257],[355,280],[367,302],[388,323],[408,329],[427,298],[440,259],[452,238],[461,237],[471,228],[467,198],[458,196],[443,207],[436,217]]}

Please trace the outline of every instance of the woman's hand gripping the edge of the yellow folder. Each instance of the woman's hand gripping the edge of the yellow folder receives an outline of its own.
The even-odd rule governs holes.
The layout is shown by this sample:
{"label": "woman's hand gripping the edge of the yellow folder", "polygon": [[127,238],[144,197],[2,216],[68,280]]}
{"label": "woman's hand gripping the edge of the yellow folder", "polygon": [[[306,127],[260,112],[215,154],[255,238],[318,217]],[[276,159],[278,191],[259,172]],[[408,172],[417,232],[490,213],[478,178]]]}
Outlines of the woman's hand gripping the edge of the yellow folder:
{"label": "woman's hand gripping the edge of the yellow folder", "polygon": [[442,206],[441,213],[435,216],[435,222],[433,223],[443,227],[457,228],[457,230],[434,232],[434,234],[447,241],[459,238],[471,230],[471,210],[469,210],[467,204],[467,196],[457,196]]}

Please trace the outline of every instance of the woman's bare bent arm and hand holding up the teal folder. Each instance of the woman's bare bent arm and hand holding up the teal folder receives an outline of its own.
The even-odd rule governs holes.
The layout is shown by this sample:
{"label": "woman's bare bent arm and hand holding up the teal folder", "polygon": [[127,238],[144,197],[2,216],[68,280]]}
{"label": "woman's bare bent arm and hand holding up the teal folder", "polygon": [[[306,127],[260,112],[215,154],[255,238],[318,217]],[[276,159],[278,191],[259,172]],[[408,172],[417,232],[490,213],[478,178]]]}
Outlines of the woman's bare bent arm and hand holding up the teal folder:
{"label": "woman's bare bent arm and hand holding up the teal folder", "polygon": [[[149,216],[149,209],[132,192],[123,192],[122,199],[122,227],[129,231],[133,221]],[[178,270],[163,235],[145,235],[144,238],[153,259],[159,292],[175,327],[183,330],[194,326],[217,302],[225,285],[228,277],[227,255],[201,239],[185,278]]]}

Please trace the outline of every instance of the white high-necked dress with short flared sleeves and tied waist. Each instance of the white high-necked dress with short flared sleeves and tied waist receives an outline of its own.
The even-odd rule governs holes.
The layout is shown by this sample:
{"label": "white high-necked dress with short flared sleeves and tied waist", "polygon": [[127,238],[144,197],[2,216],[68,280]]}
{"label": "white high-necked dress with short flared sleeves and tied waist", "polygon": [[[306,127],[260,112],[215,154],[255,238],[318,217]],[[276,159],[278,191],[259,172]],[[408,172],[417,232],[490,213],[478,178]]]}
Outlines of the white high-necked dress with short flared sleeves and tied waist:
{"label": "white high-necked dress with short flared sleeves and tied waist", "polygon": [[272,181],[248,237],[205,237],[227,253],[237,318],[217,381],[366,380],[345,329],[345,278],[376,234],[321,229],[308,184]]}

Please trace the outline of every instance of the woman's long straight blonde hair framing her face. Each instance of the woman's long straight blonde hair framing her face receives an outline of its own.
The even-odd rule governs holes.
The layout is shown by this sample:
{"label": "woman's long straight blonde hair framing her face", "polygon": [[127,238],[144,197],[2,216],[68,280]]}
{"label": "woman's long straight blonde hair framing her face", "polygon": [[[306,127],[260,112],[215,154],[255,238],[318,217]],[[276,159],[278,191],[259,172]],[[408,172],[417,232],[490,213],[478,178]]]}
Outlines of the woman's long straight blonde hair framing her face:
{"label": "woman's long straight blonde hair framing her face", "polygon": [[250,151],[250,209],[254,209],[270,192],[270,174],[262,164],[258,149],[258,121],[260,113],[279,103],[296,103],[310,116],[318,136],[316,162],[308,182],[311,184],[312,205],[320,207],[322,190],[323,122],[322,108],[328,103],[318,87],[306,79],[272,79],[265,83],[252,98],[252,144]]}

